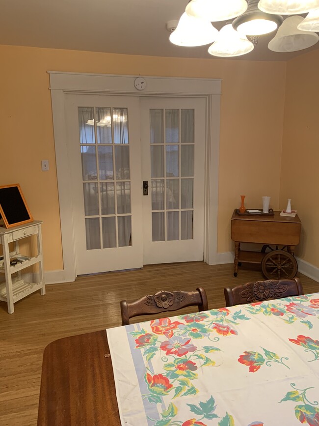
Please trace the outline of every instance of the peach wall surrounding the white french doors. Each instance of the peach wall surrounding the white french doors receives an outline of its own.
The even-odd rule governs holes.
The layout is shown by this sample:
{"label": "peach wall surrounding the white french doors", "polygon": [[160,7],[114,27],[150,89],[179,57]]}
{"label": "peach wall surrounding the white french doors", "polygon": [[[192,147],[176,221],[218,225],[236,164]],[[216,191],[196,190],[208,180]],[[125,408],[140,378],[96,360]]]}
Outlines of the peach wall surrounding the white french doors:
{"label": "peach wall surrounding the white french doors", "polygon": [[[285,62],[142,57],[0,46],[0,185],[19,182],[35,219],[44,220],[45,269],[62,269],[48,70],[221,78],[218,252],[233,250],[230,217],[246,195],[279,206]],[[50,171],[41,171],[48,159]]]}

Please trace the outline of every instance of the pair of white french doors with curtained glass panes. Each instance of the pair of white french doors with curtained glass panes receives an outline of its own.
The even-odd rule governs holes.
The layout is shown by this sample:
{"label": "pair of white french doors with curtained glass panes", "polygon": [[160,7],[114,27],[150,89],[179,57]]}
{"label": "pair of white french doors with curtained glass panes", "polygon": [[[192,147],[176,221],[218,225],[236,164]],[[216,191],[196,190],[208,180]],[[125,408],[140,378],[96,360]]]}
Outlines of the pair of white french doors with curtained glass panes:
{"label": "pair of white french doors with curtained glass panes", "polygon": [[65,112],[76,274],[202,260],[205,100],[70,94]]}

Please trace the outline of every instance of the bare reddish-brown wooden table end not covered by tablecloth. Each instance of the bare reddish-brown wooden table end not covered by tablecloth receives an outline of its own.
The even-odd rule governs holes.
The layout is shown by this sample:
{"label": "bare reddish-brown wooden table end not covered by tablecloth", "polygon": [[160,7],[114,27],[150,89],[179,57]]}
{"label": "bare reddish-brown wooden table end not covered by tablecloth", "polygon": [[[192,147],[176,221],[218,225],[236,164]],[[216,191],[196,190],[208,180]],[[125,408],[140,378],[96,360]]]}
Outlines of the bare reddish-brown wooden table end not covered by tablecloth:
{"label": "bare reddish-brown wooden table end not covered by tablecloth", "polygon": [[120,426],[106,330],[44,350],[38,426]]}

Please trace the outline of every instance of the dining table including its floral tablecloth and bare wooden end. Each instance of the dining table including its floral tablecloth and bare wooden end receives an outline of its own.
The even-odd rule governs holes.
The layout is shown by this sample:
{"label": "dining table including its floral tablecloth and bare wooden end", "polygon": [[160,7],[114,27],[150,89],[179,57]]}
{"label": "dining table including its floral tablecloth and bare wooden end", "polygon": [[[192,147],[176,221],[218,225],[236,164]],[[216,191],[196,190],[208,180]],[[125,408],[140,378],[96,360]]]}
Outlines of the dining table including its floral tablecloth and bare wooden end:
{"label": "dining table including its floral tablecloth and bare wooden end", "polygon": [[53,341],[38,426],[313,426],[318,395],[314,293]]}

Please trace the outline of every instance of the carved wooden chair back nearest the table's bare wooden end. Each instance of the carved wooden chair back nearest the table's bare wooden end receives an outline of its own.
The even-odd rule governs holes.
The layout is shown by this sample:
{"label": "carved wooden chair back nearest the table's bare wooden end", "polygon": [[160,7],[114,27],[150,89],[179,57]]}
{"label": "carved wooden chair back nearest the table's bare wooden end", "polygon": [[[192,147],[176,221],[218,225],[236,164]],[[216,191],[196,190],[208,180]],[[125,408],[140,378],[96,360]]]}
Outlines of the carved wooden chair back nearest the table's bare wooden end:
{"label": "carved wooden chair back nearest the table's bare wooden end", "polygon": [[160,312],[177,311],[187,306],[198,306],[198,311],[207,311],[206,291],[197,287],[196,291],[160,290],[154,295],[143,296],[134,302],[122,300],[122,325],[130,324],[130,318],[139,315],[152,315]]}

